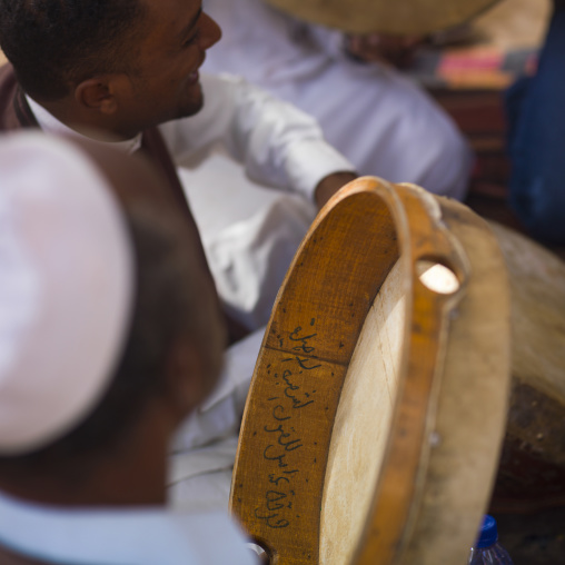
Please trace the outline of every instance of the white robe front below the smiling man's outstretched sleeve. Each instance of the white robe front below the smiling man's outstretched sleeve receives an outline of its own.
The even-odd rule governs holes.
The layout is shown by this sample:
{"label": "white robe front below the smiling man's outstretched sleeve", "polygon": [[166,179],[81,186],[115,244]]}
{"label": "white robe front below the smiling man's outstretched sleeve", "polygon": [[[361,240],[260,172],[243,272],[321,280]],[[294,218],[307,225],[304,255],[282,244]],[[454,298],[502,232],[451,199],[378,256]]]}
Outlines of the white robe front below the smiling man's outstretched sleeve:
{"label": "white robe front below the smiling man's outstretched sleeve", "polygon": [[251,329],[267,324],[316,207],[251,185],[224,153],[194,171],[179,169],[179,177],[226,310]]}

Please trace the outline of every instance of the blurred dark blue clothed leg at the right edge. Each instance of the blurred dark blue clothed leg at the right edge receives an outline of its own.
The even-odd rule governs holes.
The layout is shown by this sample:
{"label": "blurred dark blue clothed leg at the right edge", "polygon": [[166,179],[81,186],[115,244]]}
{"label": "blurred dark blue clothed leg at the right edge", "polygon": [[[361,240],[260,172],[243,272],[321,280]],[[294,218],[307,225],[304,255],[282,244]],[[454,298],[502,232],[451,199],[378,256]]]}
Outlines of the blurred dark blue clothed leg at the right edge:
{"label": "blurred dark blue clothed leg at the right edge", "polygon": [[511,205],[532,236],[547,242],[564,242],[565,7],[559,2],[536,76],[517,82],[506,101]]}

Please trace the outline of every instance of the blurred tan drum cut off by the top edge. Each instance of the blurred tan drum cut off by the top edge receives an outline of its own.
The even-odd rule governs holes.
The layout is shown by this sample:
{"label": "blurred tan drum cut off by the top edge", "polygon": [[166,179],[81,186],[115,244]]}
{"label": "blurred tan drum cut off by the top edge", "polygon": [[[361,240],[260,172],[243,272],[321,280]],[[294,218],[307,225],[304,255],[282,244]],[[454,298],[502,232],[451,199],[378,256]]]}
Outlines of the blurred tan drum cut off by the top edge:
{"label": "blurred tan drum cut off by the top edge", "polygon": [[267,0],[296,18],[348,33],[418,36],[466,22],[497,0]]}

